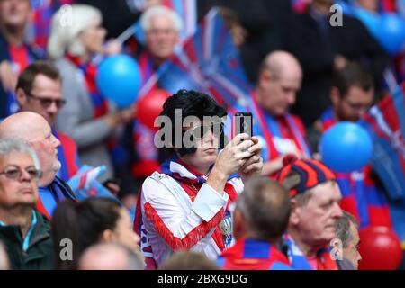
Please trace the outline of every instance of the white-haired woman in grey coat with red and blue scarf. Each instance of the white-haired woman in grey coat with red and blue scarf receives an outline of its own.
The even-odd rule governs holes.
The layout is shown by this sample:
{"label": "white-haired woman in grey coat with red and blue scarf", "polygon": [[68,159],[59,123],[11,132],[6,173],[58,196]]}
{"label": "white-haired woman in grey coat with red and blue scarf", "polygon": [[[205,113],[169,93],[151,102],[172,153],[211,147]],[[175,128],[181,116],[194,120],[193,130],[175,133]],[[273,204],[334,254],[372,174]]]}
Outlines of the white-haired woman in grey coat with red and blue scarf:
{"label": "white-haired woman in grey coat with red and blue scarf", "polygon": [[102,181],[113,175],[108,139],[113,130],[134,117],[133,109],[111,112],[95,85],[95,56],[118,52],[116,42],[103,48],[106,31],[102,14],[85,4],[73,4],[54,14],[48,52],[62,76],[63,98],[56,129],[76,141],[80,161],[90,166],[107,167]]}

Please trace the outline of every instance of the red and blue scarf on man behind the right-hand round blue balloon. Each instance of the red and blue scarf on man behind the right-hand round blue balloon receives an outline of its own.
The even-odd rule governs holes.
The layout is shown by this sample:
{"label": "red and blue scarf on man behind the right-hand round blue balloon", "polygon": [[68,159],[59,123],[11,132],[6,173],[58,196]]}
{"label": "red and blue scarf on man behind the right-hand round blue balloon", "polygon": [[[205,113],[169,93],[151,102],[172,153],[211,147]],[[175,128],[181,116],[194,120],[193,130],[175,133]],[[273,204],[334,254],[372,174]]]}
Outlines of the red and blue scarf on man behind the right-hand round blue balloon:
{"label": "red and blue scarf on man behind the right-hand round blue balloon", "polygon": [[[332,108],[321,117],[322,131],[328,130],[336,122]],[[337,173],[337,181],[342,193],[340,207],[355,215],[364,229],[369,225],[392,227],[390,208],[382,188],[376,186],[372,178],[371,166],[365,166],[354,173]]]}

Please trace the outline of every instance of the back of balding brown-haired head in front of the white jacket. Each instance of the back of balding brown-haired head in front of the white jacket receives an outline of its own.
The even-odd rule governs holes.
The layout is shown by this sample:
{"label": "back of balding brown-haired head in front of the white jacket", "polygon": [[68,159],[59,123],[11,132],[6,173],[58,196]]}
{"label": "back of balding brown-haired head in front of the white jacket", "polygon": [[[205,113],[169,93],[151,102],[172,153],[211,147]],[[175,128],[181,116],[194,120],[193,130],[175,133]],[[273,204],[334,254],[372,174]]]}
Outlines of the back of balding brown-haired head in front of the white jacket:
{"label": "back of balding brown-haired head in front of the white jacket", "polygon": [[276,241],[287,229],[290,194],[284,186],[267,177],[254,178],[239,195],[236,209],[245,216],[247,229],[255,238]]}

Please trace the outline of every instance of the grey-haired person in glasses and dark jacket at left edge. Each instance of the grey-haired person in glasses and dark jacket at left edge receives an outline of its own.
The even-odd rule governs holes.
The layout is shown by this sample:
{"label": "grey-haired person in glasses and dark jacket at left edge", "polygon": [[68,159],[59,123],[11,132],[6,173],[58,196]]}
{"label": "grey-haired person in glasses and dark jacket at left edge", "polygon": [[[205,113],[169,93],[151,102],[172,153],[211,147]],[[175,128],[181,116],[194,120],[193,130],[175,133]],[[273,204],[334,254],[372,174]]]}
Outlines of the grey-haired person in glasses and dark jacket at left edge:
{"label": "grey-haired person in glasses and dark jacket at left edge", "polygon": [[51,269],[50,224],[35,205],[42,172],[34,150],[0,139],[0,242],[12,269]]}

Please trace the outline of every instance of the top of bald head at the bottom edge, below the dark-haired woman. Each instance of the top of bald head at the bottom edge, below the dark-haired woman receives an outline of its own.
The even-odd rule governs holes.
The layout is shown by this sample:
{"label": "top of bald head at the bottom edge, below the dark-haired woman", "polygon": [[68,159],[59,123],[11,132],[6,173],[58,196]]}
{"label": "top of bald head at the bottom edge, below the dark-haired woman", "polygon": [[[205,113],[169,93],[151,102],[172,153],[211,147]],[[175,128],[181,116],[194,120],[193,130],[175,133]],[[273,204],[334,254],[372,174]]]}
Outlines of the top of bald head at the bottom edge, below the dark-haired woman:
{"label": "top of bald head at the bottom edge, below the dark-haired woman", "polygon": [[79,270],[143,270],[142,259],[118,244],[96,244],[85,250]]}

